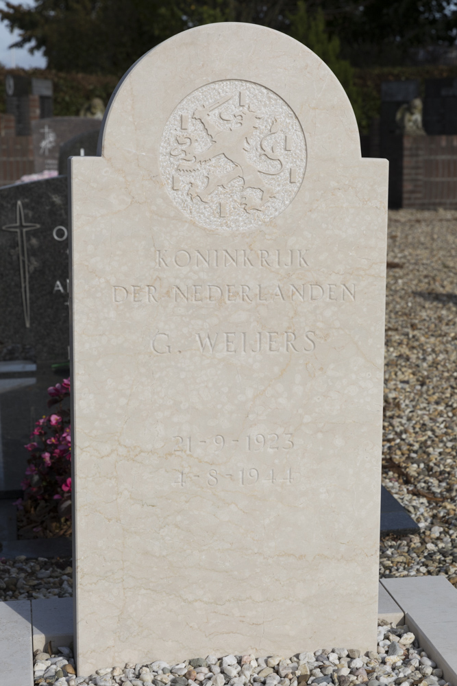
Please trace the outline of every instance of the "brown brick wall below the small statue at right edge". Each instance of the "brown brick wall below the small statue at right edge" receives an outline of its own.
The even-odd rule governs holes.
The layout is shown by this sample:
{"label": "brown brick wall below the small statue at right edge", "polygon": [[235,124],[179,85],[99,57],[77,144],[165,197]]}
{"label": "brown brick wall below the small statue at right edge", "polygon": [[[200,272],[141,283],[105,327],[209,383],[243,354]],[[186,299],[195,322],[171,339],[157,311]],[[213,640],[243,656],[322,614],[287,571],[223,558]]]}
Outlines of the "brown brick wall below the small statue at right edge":
{"label": "brown brick wall below the small statue at right edge", "polygon": [[457,209],[457,136],[405,136],[403,206]]}

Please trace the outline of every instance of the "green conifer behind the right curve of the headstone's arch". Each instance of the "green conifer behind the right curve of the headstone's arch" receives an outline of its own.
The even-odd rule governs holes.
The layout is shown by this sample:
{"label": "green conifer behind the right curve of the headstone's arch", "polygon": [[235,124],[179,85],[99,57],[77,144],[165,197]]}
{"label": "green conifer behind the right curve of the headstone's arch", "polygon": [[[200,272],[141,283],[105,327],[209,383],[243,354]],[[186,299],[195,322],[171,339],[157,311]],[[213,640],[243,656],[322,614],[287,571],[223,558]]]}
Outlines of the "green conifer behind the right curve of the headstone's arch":
{"label": "green conifer behind the right curve of the headstone's arch", "polygon": [[325,28],[323,11],[318,8],[314,14],[306,10],[304,0],[297,2],[297,12],[289,16],[290,32],[293,38],[315,52],[339,80],[351,101],[356,117],[361,116],[360,93],[354,86],[354,69],[347,60],[341,59],[340,40],[337,36],[329,36]]}

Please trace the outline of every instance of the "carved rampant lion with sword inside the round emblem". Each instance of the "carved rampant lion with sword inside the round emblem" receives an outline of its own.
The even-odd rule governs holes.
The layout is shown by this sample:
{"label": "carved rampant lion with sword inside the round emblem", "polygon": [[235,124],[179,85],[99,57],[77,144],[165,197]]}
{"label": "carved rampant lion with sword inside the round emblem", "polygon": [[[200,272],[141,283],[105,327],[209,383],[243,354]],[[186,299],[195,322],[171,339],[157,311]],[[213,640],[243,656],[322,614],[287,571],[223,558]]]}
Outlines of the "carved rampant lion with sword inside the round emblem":
{"label": "carved rampant lion with sword inside the round emblem", "polygon": [[[274,189],[264,181],[262,174],[275,176],[280,174],[284,167],[282,156],[277,152],[277,143],[272,139],[270,146],[268,140],[280,128],[277,121],[274,120],[269,132],[260,141],[261,151],[259,151],[261,158],[264,156],[277,163],[278,168],[275,171],[262,171],[262,169],[254,167],[247,158],[247,152],[249,152],[251,145],[250,138],[254,131],[259,128],[262,117],[258,117],[256,112],[249,108],[249,105],[240,105],[231,114],[220,110],[219,117],[222,122],[230,121],[229,128],[217,126],[216,121],[211,117],[213,110],[222,108],[232,97],[232,95],[222,97],[217,102],[198,108],[193,113],[194,119],[201,121],[208,133],[211,139],[210,147],[197,152],[195,150],[197,139],[193,133],[189,132],[176,137],[179,147],[172,150],[171,155],[181,157],[177,171],[184,172],[197,171],[203,163],[212,161],[219,155],[224,155],[234,167],[223,173],[211,172],[209,175],[206,174],[208,182],[204,188],[197,188],[195,183],[191,183],[188,191],[190,197],[194,199],[198,196],[202,202],[209,202],[209,196],[217,187],[227,188],[227,185],[234,179],[241,178],[243,180],[243,196],[241,198],[243,208],[247,212],[262,211],[264,204],[275,197]],[[258,197],[258,193],[247,193],[248,189],[260,191],[261,197]]]}

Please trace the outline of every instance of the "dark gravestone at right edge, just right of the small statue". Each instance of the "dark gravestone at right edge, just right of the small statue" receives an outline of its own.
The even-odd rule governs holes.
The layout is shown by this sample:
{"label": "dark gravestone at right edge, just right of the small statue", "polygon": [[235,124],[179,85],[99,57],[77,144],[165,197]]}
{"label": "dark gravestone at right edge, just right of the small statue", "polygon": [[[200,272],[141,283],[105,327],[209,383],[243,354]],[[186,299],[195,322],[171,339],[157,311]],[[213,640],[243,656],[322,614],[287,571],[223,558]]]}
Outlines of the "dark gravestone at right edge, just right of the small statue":
{"label": "dark gravestone at right edge, just right of the small statue", "polygon": [[423,128],[429,136],[457,134],[457,79],[425,80]]}

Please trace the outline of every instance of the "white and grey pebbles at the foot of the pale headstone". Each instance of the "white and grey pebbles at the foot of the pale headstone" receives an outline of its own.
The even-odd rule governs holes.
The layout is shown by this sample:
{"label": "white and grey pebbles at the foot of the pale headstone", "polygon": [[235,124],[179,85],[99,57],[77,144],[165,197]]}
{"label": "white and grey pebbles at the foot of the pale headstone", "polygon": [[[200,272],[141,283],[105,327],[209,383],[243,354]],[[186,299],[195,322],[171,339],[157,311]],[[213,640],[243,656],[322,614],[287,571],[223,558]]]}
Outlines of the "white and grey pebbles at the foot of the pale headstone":
{"label": "white and grey pebbles at the foot of the pale headstone", "polygon": [[179,665],[155,661],[147,664],[127,663],[124,667],[106,667],[96,674],[75,677],[68,648],[64,654],[35,656],[35,683],[45,686],[306,686],[327,684],[367,686],[404,684],[404,686],[446,686],[443,672],[418,647],[408,626],[378,627],[378,651],[360,654],[360,650],[332,648],[302,652],[284,659],[280,655],[255,658],[254,655],[226,655],[218,659],[186,660]]}

